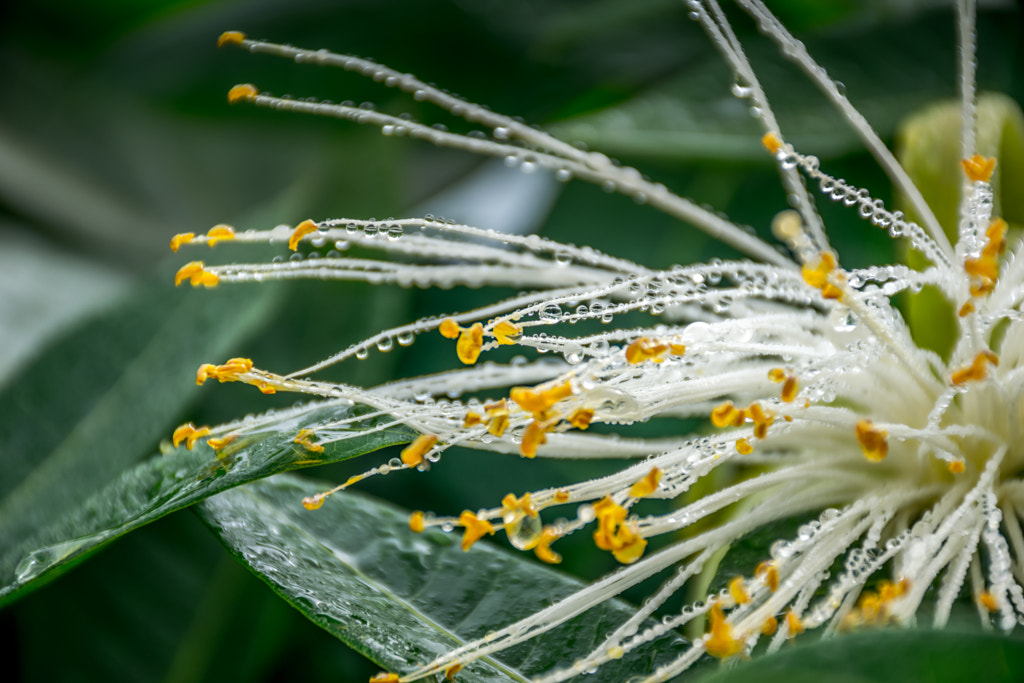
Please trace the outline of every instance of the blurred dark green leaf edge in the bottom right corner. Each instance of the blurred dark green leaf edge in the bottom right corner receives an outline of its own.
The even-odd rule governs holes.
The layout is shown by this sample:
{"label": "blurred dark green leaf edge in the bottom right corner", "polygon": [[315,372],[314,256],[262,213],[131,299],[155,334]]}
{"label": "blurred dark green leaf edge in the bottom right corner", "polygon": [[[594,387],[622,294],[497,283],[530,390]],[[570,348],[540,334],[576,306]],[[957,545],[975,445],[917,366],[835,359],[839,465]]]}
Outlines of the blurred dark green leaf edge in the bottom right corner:
{"label": "blurred dark green leaf edge in the bottom right corner", "polygon": [[701,683],[1015,683],[1024,642],[991,633],[881,630],[787,647]]}

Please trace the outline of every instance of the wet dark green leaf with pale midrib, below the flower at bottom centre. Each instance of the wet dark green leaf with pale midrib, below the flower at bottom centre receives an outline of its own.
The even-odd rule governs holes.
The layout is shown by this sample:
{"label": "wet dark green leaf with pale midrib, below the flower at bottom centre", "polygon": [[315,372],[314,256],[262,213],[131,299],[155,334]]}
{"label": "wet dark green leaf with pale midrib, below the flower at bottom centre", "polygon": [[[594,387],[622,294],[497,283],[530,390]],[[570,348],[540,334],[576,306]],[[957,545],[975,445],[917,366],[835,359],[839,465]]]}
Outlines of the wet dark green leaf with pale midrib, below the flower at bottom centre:
{"label": "wet dark green leaf with pale midrib, below the flower at bottom centre", "polygon": [[[315,512],[297,504],[322,486],[279,476],[211,498],[199,511],[276,593],[389,671],[426,664],[583,586],[487,543],[464,553],[449,535],[414,533],[406,513],[353,492]],[[602,603],[535,641],[468,666],[459,680],[528,680],[571,664],[632,610],[616,600]],[[589,678],[624,681],[685,646],[668,634]]]}

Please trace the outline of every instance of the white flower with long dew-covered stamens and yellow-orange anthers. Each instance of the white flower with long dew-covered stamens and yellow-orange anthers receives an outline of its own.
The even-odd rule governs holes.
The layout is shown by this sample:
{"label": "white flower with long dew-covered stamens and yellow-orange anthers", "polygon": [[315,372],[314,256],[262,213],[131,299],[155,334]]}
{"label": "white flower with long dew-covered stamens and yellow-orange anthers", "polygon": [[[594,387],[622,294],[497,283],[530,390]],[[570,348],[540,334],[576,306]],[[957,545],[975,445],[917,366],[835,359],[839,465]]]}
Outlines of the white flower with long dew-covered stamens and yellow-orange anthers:
{"label": "white flower with long dew-covered stamens and yellow-orange anthers", "polygon": [[[225,240],[287,243],[296,254],[306,244],[335,244],[339,250],[326,258],[272,263],[207,266],[194,261],[178,272],[179,284],[187,280],[212,287],[315,278],[529,289],[482,308],[385,330],[287,376],[257,369],[245,358],[203,366],[197,376],[201,384],[241,381],[266,393],[305,393],[322,399],[316,411],[351,401],[370,409],[358,417],[297,430],[295,443],[309,451],[350,437],[352,423],[381,416],[390,421],[378,421],[377,429],[401,423],[420,434],[400,459],[306,499],[309,509],[367,476],[425,469],[453,445],[524,458],[636,461],[601,478],[510,493],[477,512],[414,512],[410,526],[416,531],[461,527],[465,550],[484,536],[504,531],[514,547],[557,563],[555,544],[586,533],[623,567],[484,639],[381,680],[412,681],[457,671],[670,569],[674,571],[662,588],[587,657],[542,680],[571,678],[694,620],[706,621],[706,635],[647,680],[670,679],[705,653],[732,657],[753,651],[762,640],[772,650],[804,631],[908,624],[935,584],[933,621],[942,626],[968,578],[986,625],[994,622],[1010,630],[1024,620],[1018,580],[1024,571],[1024,486],[1017,475],[1024,465],[1017,433],[1024,388],[1024,319],[1019,310],[1024,268],[1020,260],[1004,257],[1007,223],[992,215],[996,161],[975,151],[971,8],[962,3],[959,14],[963,200],[951,244],[863,117],[762,2],[739,4],[844,115],[906,195],[920,222],[829,175],[818,159],[785,142],[718,4],[687,4],[737,82],[744,84],[741,94],[751,99],[765,128],[762,142],[793,197],[796,208],[778,213],[772,222],[784,249],[603,155],[578,150],[413,76],[357,57],[254,41],[236,32],[221,37],[221,44],[253,52],[359,72],[493,135],[455,134],[368,109],[274,97],[253,85],[232,88],[231,101],[369,123],[385,134],[502,157],[527,169],[545,167],[562,180],[596,182],[681,218],[752,259],[653,270],[587,247],[429,216],[384,222],[304,220],[294,227],[245,232],[218,225],[206,236],[174,238],[174,250]],[[843,267],[806,180],[825,197],[856,209],[868,223],[906,241],[928,266]],[[340,253],[350,246],[393,258]],[[1016,246],[1015,255],[1022,248]],[[896,295],[926,286],[956,311],[948,357],[920,347],[893,303]],[[568,332],[572,324],[611,324],[638,312],[656,316],[658,324],[575,336]],[[454,355],[463,368],[374,388],[310,379],[351,356],[365,357],[373,347],[389,348],[395,341],[408,345],[416,335],[433,331],[455,342]],[[504,345],[562,359],[480,362]],[[477,397],[486,392],[497,395]],[[295,409],[288,418],[294,421],[311,410]],[[596,424],[625,428],[655,418],[694,417],[706,418],[708,430],[679,438],[612,438],[589,431]],[[218,447],[273,420],[280,416],[211,428],[185,425],[175,432],[175,441],[190,446],[206,438]],[[669,513],[634,512],[645,499],[678,499],[725,465],[741,474]],[[574,510],[572,518],[544,524],[546,511],[560,506]],[[716,554],[766,524],[801,516],[810,516],[809,521],[794,538],[778,540],[748,573],[656,626],[643,626]],[[670,536],[672,543],[648,550],[648,540]],[[841,568],[830,575],[836,566]]]}

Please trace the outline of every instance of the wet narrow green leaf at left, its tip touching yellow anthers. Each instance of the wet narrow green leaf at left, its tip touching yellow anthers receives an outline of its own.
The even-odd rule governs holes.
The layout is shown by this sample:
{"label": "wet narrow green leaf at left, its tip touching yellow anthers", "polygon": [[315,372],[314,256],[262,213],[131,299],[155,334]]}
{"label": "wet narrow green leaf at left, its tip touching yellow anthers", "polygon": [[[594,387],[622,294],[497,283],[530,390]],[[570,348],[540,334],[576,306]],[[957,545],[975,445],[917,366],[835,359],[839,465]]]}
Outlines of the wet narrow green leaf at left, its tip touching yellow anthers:
{"label": "wet narrow green leaf at left, its tip touching yellow anthers", "polygon": [[[378,416],[356,423],[360,427],[353,429],[351,437],[326,443],[323,453],[307,451],[293,441],[302,428],[352,417],[360,411],[335,400],[306,408],[298,416],[286,412],[281,420],[251,430],[219,454],[205,444],[194,451],[180,447],[125,471],[83,504],[60,506],[59,519],[33,529],[0,551],[0,602],[35,587],[53,570],[118,536],[231,486],[412,440],[414,432],[403,426],[364,433],[390,422],[390,418]],[[300,504],[298,499],[292,503]]]}

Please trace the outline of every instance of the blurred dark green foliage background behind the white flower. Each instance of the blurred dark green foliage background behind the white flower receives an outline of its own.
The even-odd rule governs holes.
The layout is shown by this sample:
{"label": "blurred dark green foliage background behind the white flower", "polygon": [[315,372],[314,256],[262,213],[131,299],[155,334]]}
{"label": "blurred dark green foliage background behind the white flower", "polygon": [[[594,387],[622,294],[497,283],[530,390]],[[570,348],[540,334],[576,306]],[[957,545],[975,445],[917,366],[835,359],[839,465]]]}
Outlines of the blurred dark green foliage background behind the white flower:
{"label": "blurred dark green foliage background behind the white flower", "polygon": [[[906,114],[955,94],[948,8],[909,0],[770,4],[886,139]],[[745,17],[731,9],[730,15],[788,138],[821,156],[834,175],[888,200],[887,181],[827,104]],[[1024,100],[1021,27],[1012,4],[985,5],[979,19],[980,85],[1018,101]],[[70,447],[69,435],[94,408],[97,387],[125,361],[122,354],[140,352],[134,342],[108,344],[100,332],[108,328],[96,321],[124,327],[129,341],[137,328],[142,339],[160,325],[176,325],[165,310],[187,316],[212,296],[171,289],[180,264],[208,257],[171,255],[167,242],[176,232],[219,222],[265,228],[306,217],[415,211],[482,227],[514,223],[649,266],[731,255],[653,210],[581,182],[524,181],[500,164],[386,139],[354,124],[229,108],[227,89],[253,82],[274,93],[370,100],[389,113],[468,130],[352,74],[217,50],[224,30],[413,72],[636,165],[762,233],[785,206],[757,126],[729,93],[731,76],[679,2],[0,5],[0,387],[10,408],[0,413],[0,519],[16,510],[4,497],[26,481],[45,481],[38,468],[58,446]],[[846,265],[894,258],[883,232],[842,207],[820,208]],[[266,253],[228,245],[214,257]],[[263,300],[245,321],[225,321],[229,330],[212,321],[197,333],[197,344],[222,338],[225,357],[247,355],[287,372],[381,327],[494,296],[352,284],[278,289],[230,294],[239,302]],[[124,312],[138,310],[151,315]],[[372,384],[452,360],[443,340],[423,339],[334,376]],[[188,373],[173,372],[159,362],[152,368],[153,392],[168,383],[181,387],[159,418],[141,410],[120,416],[129,425],[146,421],[134,445],[82,455],[78,466],[89,475],[50,495],[84,499],[157,452],[161,435],[185,420],[211,423],[287,403],[246,387],[198,389]],[[28,420],[19,411],[45,417]],[[315,476],[340,479],[365,466],[335,466]],[[451,454],[429,475],[388,477],[366,489],[409,508],[457,513],[584,471],[578,464],[526,467],[514,458]],[[586,578],[611,568],[584,545],[566,543],[564,568]],[[118,541],[5,607],[0,640],[10,651],[7,670],[24,681],[360,681],[378,669],[274,597],[188,512]]]}

